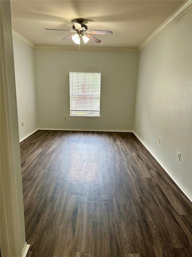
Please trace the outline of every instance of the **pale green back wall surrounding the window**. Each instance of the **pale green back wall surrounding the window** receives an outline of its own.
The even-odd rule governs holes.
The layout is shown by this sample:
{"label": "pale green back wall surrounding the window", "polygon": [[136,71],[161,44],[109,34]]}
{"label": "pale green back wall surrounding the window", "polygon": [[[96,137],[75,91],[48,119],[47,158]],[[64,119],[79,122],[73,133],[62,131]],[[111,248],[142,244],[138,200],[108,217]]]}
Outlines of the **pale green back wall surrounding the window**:
{"label": "pale green back wall surrounding the window", "polygon": [[[132,130],[137,61],[138,53],[35,50],[38,127]],[[69,71],[101,71],[101,118],[68,117]]]}

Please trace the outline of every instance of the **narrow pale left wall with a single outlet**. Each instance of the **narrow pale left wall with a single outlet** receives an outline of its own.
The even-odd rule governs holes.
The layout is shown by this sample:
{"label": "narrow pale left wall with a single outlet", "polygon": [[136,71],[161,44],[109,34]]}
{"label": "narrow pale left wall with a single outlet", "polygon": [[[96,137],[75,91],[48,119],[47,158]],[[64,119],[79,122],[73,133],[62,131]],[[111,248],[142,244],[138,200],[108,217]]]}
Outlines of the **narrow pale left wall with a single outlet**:
{"label": "narrow pale left wall with a single outlet", "polygon": [[34,51],[13,37],[19,139],[37,128]]}

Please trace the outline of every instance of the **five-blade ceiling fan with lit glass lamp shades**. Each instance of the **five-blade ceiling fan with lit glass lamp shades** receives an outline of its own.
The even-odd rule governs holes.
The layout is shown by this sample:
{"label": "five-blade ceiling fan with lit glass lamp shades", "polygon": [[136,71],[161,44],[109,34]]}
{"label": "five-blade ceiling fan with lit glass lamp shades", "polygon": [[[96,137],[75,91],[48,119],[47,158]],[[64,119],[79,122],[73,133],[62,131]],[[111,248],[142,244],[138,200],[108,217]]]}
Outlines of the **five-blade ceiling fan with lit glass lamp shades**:
{"label": "five-blade ceiling fan with lit glass lamp shades", "polygon": [[[73,41],[76,44],[80,44],[81,38],[83,39],[84,43],[87,43],[90,40],[92,40],[94,43],[100,43],[101,40],[96,38],[95,36],[92,36],[91,34],[102,34],[102,35],[113,35],[113,32],[109,30],[87,30],[87,25],[83,24],[84,20],[76,20],[76,22],[73,23],[73,30],[65,30],[69,32],[76,32],[71,34],[70,36],[67,36],[63,40],[68,40],[70,38],[73,39]],[[59,29],[45,29],[45,30],[59,30]]]}

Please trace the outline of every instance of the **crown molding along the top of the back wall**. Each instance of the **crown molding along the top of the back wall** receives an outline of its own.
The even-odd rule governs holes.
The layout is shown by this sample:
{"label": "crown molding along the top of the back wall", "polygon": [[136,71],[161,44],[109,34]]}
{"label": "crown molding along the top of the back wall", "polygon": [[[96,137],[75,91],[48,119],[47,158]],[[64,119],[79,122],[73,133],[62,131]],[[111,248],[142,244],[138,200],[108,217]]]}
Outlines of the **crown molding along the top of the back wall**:
{"label": "crown molding along the top of the back wall", "polygon": [[[59,45],[35,45],[35,50],[68,50],[79,51],[79,45],[59,46]],[[138,52],[137,48],[118,48],[118,47],[80,47],[81,51],[99,51],[99,52]]]}

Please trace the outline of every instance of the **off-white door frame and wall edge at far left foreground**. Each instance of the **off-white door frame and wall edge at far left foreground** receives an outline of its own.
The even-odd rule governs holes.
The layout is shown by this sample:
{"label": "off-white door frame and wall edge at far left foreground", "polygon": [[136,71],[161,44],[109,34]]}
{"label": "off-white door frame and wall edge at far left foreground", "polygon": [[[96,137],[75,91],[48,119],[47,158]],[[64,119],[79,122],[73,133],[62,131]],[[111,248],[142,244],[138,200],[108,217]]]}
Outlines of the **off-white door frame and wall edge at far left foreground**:
{"label": "off-white door frame and wall edge at far left foreground", "polygon": [[[19,132],[13,61],[10,1],[0,1],[1,83],[1,256],[25,257],[24,209],[19,165]],[[20,192],[19,192],[20,190]]]}

